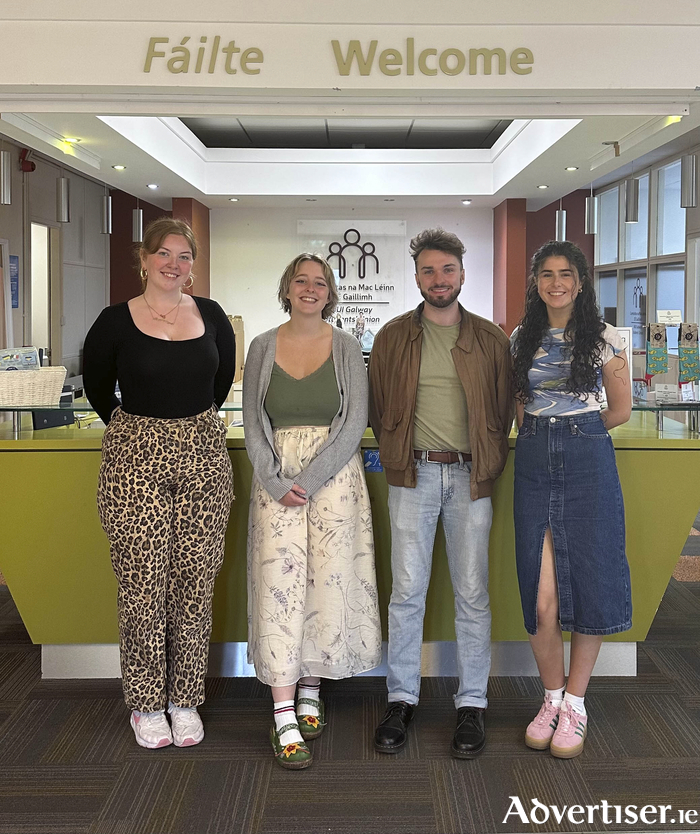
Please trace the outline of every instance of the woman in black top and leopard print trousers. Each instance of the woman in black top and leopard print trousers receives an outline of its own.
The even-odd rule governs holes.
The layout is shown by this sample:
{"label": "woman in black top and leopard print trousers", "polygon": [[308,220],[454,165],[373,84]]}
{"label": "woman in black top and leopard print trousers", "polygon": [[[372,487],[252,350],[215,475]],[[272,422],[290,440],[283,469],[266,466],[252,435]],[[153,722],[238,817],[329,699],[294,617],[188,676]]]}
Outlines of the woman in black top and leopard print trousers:
{"label": "woman in black top and leopard print trousers", "polygon": [[103,310],[83,353],[86,394],[107,425],[97,503],[118,582],[124,699],[149,748],[204,738],[197,707],[233,500],[218,417],[233,330],[216,302],[182,293],[196,252],[182,221],[151,224],[143,294]]}

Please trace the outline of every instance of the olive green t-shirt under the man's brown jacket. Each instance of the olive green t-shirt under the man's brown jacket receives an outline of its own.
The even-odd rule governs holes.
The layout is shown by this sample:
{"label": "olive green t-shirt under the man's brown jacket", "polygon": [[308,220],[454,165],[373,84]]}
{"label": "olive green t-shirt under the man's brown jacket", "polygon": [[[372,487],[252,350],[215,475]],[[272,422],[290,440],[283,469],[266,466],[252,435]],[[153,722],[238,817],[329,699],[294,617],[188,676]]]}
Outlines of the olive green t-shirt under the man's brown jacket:
{"label": "olive green t-shirt under the man's brown jacket", "polygon": [[451,350],[460,324],[442,327],[421,319],[423,345],[413,420],[413,448],[471,452],[467,398]]}

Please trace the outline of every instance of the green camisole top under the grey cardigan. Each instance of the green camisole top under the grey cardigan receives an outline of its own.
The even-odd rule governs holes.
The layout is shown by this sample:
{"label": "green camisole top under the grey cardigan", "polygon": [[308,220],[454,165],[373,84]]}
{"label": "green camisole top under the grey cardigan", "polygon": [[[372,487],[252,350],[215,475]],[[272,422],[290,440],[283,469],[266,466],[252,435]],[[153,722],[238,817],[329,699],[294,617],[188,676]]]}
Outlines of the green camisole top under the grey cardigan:
{"label": "green camisole top under the grey cardigan", "polygon": [[333,355],[313,373],[295,379],[275,362],[265,395],[265,411],[273,429],[330,426],[340,410],[340,392]]}

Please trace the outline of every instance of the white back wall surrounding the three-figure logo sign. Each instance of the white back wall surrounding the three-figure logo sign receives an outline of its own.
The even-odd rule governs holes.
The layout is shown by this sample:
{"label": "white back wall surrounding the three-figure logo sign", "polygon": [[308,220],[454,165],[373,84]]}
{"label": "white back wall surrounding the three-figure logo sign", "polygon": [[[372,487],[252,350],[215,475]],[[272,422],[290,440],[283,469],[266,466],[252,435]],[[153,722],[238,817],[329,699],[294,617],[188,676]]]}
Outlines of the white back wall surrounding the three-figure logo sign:
{"label": "white back wall surrounding the three-figure logo sign", "polygon": [[311,217],[406,221],[406,309],[422,298],[408,254],[411,237],[442,226],[464,243],[466,279],[461,303],[490,319],[493,313],[493,212],[491,209],[405,209],[348,212],[347,209],[213,209],[211,212],[211,297],[230,315],[243,316],[246,345],[286,320],[277,302],[284,267],[301,251],[297,220]]}

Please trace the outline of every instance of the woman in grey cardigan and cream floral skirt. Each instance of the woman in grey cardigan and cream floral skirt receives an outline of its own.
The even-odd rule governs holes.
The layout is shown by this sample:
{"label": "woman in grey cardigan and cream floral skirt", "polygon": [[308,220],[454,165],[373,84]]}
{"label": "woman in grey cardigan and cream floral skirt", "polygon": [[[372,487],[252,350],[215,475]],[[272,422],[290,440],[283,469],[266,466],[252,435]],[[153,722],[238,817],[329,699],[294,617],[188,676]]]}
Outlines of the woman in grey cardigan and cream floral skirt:
{"label": "woman in grey cardigan and cream floral skirt", "polygon": [[254,471],[248,659],[272,687],[276,761],[300,769],[312,761],[306,741],[326,723],[320,679],[377,666],[381,629],[359,452],[367,426],[362,352],[325,321],[338,293],[323,258],[296,257],[279,300],[290,319],[253,340],[243,381]]}

